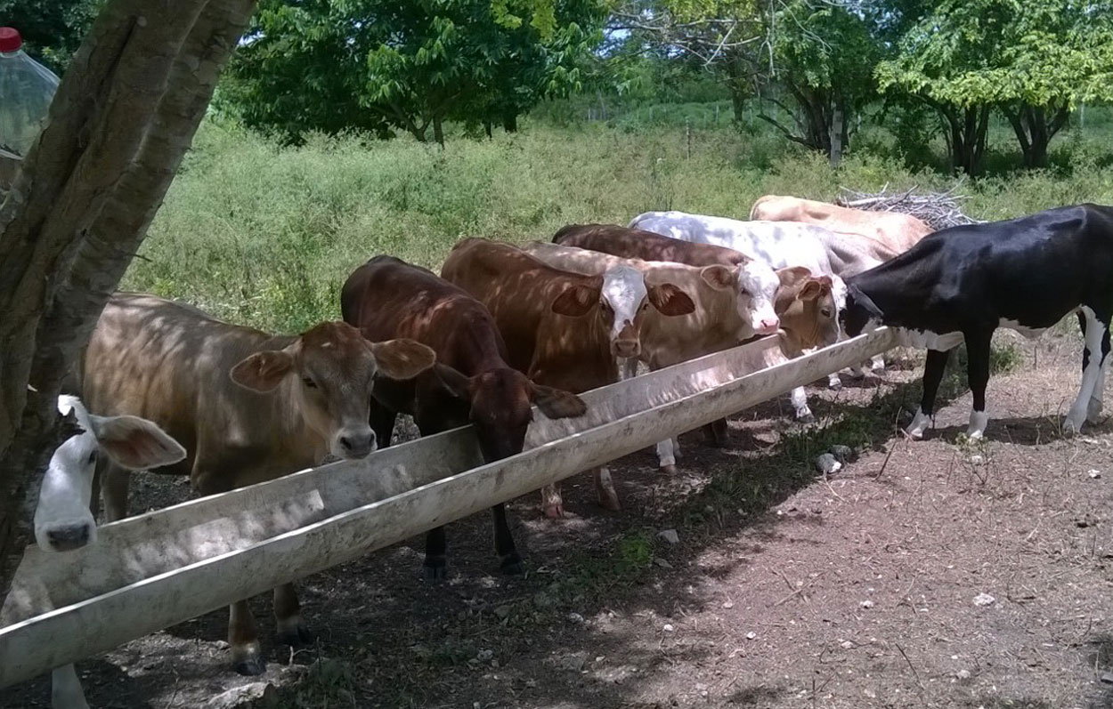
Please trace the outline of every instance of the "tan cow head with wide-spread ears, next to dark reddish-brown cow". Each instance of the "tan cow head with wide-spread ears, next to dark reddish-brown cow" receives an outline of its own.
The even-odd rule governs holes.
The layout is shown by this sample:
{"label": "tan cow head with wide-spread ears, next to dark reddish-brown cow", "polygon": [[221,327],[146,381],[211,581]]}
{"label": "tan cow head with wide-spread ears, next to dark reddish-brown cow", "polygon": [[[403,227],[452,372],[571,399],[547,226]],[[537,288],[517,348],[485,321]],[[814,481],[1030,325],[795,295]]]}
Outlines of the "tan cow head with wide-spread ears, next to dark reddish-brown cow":
{"label": "tan cow head with wide-spread ears, next to dark reddish-brown cow", "polygon": [[256,352],[232,368],[232,380],[259,393],[288,382],[293,407],[337,458],[364,458],[376,448],[367,420],[375,377],[412,379],[436,354],[414,340],[370,342],[346,322],[323,322],[280,350]]}

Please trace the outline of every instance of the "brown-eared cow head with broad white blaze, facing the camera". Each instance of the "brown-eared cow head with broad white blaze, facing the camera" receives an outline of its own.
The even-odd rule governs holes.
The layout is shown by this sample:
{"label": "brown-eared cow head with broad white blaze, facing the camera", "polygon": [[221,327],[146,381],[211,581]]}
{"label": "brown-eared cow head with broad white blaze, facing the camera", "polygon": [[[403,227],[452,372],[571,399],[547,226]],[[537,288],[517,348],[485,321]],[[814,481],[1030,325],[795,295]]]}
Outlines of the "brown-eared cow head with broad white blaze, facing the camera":
{"label": "brown-eared cow head with broad white blaze, facing the camera", "polygon": [[640,329],[652,307],[664,316],[684,316],[696,303],[672,283],[646,286],[641,271],[629,266],[607,269],[602,276],[572,286],[552,303],[552,311],[563,316],[585,316],[592,310],[608,332],[611,354],[627,358],[641,354]]}

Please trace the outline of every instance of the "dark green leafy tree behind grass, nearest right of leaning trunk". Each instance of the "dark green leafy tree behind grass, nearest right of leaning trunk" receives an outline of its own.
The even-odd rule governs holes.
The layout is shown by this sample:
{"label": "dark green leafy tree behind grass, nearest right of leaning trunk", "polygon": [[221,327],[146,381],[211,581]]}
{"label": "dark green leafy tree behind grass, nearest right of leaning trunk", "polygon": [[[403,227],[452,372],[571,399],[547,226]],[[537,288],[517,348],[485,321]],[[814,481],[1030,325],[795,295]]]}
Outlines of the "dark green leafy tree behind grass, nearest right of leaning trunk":
{"label": "dark green leafy tree behind grass, nearest right of leaning trunk", "polygon": [[287,138],[391,126],[443,142],[450,119],[513,129],[580,86],[603,19],[598,0],[264,0],[225,98]]}

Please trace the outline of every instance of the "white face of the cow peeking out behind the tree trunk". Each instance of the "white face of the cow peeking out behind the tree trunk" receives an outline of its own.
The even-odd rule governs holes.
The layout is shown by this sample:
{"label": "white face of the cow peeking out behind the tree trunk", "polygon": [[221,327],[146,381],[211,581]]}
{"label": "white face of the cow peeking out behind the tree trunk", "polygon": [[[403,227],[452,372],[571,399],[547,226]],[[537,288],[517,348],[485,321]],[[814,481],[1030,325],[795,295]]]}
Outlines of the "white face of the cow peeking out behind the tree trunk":
{"label": "white face of the cow peeking out behind the tree trunk", "polygon": [[79,547],[97,539],[97,525],[89,511],[92,476],[97,468],[97,437],[88,411],[77,397],[58,397],[58,411],[70,411],[81,432],[55,450],[42,476],[39,503],[35,508],[35,541],[43,551]]}

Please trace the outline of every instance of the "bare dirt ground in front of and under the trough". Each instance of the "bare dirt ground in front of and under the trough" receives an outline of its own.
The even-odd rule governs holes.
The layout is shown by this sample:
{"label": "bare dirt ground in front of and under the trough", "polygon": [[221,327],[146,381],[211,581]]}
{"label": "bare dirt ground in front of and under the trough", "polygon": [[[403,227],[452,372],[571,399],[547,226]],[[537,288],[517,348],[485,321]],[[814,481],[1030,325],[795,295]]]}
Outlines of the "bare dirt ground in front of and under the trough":
{"label": "bare dirt ground in front of and under the trough", "polygon": [[[524,577],[498,576],[485,516],[449,528],[444,585],[418,579],[420,539],[311,577],[317,642],[293,656],[255,599],[262,678],[227,666],[223,610],[78,670],[105,709],[227,706],[260,681],[275,689],[259,703],[314,708],[1113,706],[1113,425],[1058,435],[1078,349],[1014,346],[983,443],[962,436],[955,362],[926,440],[896,431],[918,398],[909,353],[840,392],[810,388],[812,428],[782,399],[733,417],[725,448],[684,436],[677,476],[651,451],[622,459],[621,513],[587,476],[564,482],[560,522],[538,496],[515,500]],[[861,455],[824,479],[811,461],[836,442]],[[151,478],[132,509],[186,495]],[[47,707],[49,682],[0,706]]]}

